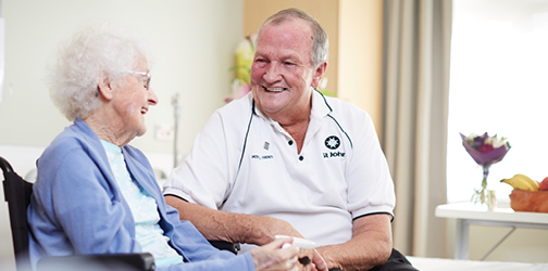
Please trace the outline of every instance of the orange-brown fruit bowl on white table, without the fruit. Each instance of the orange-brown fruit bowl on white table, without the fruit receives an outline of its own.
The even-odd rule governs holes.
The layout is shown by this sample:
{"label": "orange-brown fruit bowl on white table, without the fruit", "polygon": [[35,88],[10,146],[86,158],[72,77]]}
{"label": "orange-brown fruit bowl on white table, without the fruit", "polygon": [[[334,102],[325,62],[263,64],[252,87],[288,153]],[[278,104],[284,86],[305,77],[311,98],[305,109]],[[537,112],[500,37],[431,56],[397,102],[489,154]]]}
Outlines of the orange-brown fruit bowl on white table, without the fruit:
{"label": "orange-brown fruit bowl on white table, without the fruit", "polygon": [[548,191],[512,190],[510,207],[515,211],[548,212]]}

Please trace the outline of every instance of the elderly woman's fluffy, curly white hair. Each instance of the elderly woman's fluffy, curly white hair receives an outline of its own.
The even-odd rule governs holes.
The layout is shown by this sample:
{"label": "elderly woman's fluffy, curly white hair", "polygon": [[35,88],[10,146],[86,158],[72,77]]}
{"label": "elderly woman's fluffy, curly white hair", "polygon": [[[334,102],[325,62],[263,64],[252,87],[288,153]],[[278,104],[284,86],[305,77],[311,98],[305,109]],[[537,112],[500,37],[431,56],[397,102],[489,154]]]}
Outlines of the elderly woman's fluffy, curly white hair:
{"label": "elderly woman's fluffy, curly white hair", "polygon": [[51,100],[68,120],[87,118],[101,105],[99,79],[121,79],[139,57],[151,65],[152,53],[142,38],[109,23],[87,25],[59,47],[49,68]]}

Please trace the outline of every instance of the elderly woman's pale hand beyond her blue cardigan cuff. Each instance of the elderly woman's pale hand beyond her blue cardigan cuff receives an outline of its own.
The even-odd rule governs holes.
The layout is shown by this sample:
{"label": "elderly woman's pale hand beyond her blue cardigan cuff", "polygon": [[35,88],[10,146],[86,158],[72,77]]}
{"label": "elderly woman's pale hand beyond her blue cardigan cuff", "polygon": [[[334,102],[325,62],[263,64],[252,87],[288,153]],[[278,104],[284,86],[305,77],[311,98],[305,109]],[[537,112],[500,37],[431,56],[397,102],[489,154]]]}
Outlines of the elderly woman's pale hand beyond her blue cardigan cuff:
{"label": "elderly woman's pale hand beyond her blue cardigan cuff", "polygon": [[301,270],[303,267],[298,261],[300,249],[296,246],[282,248],[286,243],[291,243],[292,238],[279,238],[270,244],[252,249],[251,256],[257,271],[262,270]]}

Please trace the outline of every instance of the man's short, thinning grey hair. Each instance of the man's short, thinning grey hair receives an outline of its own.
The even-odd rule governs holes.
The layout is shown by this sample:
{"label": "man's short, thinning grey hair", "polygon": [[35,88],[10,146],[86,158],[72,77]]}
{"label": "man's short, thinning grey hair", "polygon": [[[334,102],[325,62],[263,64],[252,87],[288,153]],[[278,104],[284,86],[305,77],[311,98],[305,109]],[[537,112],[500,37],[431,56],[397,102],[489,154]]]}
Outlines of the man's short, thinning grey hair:
{"label": "man's short, thinning grey hair", "polygon": [[320,66],[320,64],[327,62],[327,59],[329,56],[329,39],[327,38],[327,34],[322,28],[320,23],[317,23],[317,21],[315,21],[312,16],[310,16],[309,14],[307,14],[301,10],[298,9],[282,10],[276,14],[270,16],[261,25],[261,28],[259,28],[257,37],[259,37],[259,35],[261,34],[261,29],[266,24],[281,25],[282,23],[294,18],[300,18],[306,21],[310,25],[310,28],[312,29],[313,41],[310,55],[312,66],[317,67]]}

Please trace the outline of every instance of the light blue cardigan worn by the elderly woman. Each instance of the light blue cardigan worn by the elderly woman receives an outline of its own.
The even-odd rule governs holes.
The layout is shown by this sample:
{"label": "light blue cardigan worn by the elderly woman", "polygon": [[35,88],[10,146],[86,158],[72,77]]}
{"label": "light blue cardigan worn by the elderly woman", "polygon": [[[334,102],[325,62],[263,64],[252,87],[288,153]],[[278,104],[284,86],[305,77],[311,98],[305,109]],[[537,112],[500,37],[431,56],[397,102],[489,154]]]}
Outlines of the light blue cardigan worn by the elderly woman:
{"label": "light blue cardigan worn by the elderly woman", "polygon": [[[157,270],[254,270],[249,253],[220,251],[177,210],[167,206],[152,167],[135,147],[122,147],[127,167],[152,196],[160,227],[185,263]],[[46,256],[140,253],[135,222],[97,134],[82,119],[65,128],[38,160],[38,180],[27,210],[33,267]]]}

